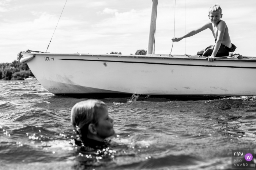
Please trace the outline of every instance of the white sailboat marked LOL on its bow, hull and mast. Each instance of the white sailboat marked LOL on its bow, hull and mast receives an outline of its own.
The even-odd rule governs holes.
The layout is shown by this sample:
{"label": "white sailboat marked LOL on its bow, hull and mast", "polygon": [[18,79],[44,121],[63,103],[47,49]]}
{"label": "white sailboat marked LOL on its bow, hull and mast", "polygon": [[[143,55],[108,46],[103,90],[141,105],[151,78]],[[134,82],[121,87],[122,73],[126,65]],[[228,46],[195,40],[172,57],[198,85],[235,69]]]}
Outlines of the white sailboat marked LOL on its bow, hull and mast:
{"label": "white sailboat marked LOL on its bow, hull and mast", "polygon": [[153,54],[157,3],[152,1],[146,56],[27,51],[20,62],[56,95],[256,95],[256,57],[234,55],[208,62],[201,56]]}

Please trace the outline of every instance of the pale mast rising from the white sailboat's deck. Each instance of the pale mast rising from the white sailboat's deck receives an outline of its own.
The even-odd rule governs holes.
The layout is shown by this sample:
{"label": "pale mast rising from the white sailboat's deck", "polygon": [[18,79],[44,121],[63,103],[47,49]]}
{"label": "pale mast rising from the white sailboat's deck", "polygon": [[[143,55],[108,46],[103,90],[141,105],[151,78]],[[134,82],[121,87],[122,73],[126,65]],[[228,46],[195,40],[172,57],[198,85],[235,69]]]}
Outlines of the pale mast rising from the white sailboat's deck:
{"label": "pale mast rising from the white sailboat's deck", "polygon": [[155,38],[155,24],[156,24],[156,19],[157,19],[157,3],[158,3],[158,0],[152,0],[151,21],[150,21],[150,30],[149,30],[149,36],[148,36],[147,55],[153,53],[154,38]]}

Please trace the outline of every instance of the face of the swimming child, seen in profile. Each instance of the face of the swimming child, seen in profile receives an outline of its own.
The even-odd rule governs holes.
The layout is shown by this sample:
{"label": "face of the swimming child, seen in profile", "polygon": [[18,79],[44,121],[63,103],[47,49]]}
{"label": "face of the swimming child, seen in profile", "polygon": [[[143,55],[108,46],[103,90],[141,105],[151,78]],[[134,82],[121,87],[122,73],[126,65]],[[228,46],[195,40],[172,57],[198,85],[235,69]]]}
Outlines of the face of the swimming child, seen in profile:
{"label": "face of the swimming child, seen in profile", "polygon": [[99,122],[95,128],[97,135],[102,139],[108,138],[114,134],[113,119],[109,117],[108,109],[105,108],[99,112]]}

